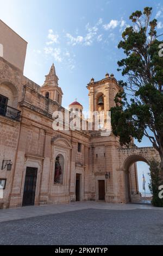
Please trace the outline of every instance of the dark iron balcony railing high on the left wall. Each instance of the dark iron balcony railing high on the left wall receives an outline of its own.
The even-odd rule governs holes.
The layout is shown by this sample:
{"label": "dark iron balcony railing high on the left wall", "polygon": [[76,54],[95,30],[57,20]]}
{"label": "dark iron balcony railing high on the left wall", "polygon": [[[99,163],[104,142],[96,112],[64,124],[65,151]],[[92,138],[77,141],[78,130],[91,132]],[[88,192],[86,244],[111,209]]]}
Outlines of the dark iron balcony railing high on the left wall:
{"label": "dark iron balcony railing high on the left wall", "polygon": [[0,104],[0,115],[16,121],[20,121],[21,119],[21,111],[3,104]]}

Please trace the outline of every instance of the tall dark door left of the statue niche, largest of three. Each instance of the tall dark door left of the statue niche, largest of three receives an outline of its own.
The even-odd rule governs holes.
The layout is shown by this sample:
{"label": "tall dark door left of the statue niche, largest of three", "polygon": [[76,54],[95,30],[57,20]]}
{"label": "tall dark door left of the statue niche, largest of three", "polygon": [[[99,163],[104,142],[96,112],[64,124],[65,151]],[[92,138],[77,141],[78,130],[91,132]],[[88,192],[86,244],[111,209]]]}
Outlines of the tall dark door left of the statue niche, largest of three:
{"label": "tall dark door left of the statue niche, largest of three", "polygon": [[27,167],[24,182],[23,206],[35,204],[37,168]]}

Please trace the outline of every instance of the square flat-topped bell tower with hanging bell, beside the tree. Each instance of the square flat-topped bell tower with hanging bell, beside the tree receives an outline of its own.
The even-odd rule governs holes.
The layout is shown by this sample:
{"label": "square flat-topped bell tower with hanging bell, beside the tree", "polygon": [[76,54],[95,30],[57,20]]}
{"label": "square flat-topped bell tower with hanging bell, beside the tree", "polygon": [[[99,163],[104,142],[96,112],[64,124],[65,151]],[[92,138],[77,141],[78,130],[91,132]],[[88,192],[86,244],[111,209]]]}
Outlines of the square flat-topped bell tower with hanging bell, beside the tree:
{"label": "square flat-topped bell tower with hanging bell, beside the tree", "polygon": [[89,90],[90,118],[92,117],[92,112],[98,111],[100,113],[103,111],[104,119],[106,119],[107,111],[115,106],[114,98],[120,89],[114,75],[111,74],[109,76],[106,73],[105,78],[97,82],[95,82],[94,78],[91,78],[90,83],[87,84],[87,89]]}

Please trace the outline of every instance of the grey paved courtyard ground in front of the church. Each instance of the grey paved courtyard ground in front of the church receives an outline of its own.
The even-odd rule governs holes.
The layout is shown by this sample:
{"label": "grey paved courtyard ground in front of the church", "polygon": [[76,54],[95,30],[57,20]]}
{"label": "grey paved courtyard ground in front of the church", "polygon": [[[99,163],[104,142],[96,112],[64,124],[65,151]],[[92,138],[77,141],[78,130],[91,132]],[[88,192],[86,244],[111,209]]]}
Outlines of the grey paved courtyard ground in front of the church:
{"label": "grey paved courtyard ground in front of the church", "polygon": [[[31,209],[26,207],[0,211],[2,217],[5,212],[12,213],[11,219],[17,215],[17,220],[1,219],[1,245],[163,244],[162,208],[81,202],[71,205],[33,206],[35,217],[29,217],[28,212]],[[27,216],[21,218],[23,211],[26,211]],[[47,211],[50,214],[45,215]],[[9,218],[9,213],[7,217]]]}

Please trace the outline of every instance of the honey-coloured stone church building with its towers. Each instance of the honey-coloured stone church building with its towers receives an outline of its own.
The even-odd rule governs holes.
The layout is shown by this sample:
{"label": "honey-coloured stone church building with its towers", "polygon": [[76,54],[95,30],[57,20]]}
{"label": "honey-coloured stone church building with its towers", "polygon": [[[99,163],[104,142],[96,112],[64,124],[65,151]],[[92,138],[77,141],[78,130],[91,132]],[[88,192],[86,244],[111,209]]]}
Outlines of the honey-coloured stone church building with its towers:
{"label": "honey-coloured stone church building with its towers", "polygon": [[[82,120],[82,104],[74,101],[68,110],[62,107],[54,64],[42,87],[25,77],[26,41],[4,23],[1,32],[5,40],[0,57],[0,208],[139,199],[136,164],[130,167],[130,175],[121,168],[118,138],[112,133],[101,136],[93,128],[53,129],[54,112],[64,115],[76,110]],[[12,50],[10,38],[15,42]],[[114,75],[106,74],[97,82],[92,78],[87,89],[90,113],[103,111],[106,119],[120,89]],[[86,125],[89,122],[93,124],[93,119]]]}

